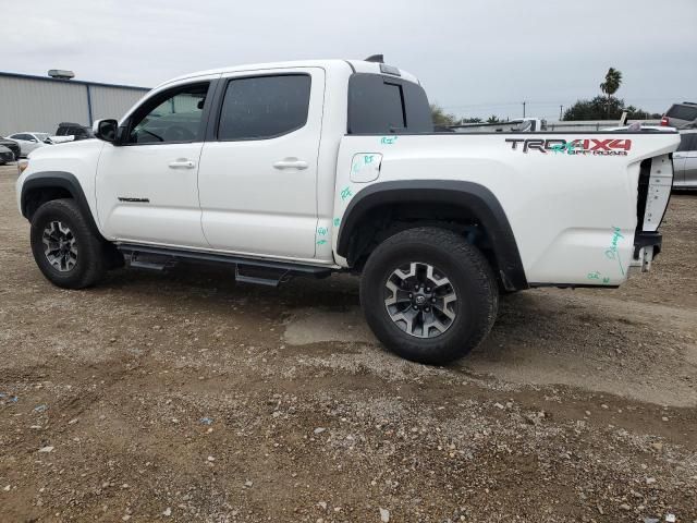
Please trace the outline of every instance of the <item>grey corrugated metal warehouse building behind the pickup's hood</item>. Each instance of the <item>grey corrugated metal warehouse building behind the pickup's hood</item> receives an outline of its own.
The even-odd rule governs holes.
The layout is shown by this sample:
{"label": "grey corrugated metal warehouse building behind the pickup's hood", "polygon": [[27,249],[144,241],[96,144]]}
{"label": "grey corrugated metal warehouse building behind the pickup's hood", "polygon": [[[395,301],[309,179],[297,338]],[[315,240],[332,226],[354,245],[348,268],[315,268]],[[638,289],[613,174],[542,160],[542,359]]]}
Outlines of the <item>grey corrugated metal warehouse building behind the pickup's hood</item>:
{"label": "grey corrugated metal warehouse building behind the pickup's hood", "polygon": [[60,122],[121,118],[146,87],[0,72],[0,135],[56,133]]}

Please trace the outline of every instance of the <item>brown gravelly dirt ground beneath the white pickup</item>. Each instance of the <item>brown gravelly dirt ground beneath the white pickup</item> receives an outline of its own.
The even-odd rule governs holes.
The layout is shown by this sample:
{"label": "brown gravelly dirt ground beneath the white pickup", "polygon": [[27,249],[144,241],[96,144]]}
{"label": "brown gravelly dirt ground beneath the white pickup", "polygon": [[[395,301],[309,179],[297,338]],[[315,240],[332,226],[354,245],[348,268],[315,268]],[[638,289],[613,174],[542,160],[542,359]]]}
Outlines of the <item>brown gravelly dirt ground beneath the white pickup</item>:
{"label": "brown gravelly dirt ground beneath the white pickup", "polygon": [[0,168],[0,521],[697,520],[697,194],[649,275],[506,296],[436,368],[340,276],[36,268]]}

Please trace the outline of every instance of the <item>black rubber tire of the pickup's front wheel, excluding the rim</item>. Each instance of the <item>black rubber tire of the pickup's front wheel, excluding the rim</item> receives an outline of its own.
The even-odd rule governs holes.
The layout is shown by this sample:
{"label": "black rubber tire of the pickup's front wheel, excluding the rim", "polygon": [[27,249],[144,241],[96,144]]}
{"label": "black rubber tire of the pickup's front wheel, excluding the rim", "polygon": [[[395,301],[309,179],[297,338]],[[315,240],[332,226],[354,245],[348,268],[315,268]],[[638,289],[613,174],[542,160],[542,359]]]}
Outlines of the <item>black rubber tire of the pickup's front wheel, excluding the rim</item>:
{"label": "black rubber tire of the pickup's front wheel, excluding the rim", "polygon": [[[62,223],[69,231],[66,238],[74,239],[72,248],[75,258],[72,267],[64,270],[57,268],[45,253],[45,230],[53,228],[53,223]],[[97,283],[105,275],[107,260],[105,241],[93,232],[73,199],[53,199],[41,205],[32,217],[32,253],[36,265],[44,276],[53,284],[64,289],[83,289]],[[60,257],[60,256],[57,256]],[[60,264],[63,266],[63,264]],[[65,264],[68,265],[68,264]]]}

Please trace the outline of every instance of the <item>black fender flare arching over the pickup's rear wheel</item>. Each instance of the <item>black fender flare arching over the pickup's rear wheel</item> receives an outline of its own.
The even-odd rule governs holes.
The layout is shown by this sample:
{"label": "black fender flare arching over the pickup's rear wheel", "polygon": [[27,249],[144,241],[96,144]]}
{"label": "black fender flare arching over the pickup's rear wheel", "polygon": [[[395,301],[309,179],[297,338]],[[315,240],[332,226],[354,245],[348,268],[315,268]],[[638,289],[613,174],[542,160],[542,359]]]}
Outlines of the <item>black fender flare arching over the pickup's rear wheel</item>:
{"label": "black fender flare arching over the pickup's rear wheel", "polygon": [[337,254],[346,258],[352,232],[371,209],[386,204],[449,204],[467,208],[487,230],[501,278],[509,290],[527,289],[513,230],[501,204],[484,185],[457,180],[403,180],[368,185],[351,199],[341,220]]}

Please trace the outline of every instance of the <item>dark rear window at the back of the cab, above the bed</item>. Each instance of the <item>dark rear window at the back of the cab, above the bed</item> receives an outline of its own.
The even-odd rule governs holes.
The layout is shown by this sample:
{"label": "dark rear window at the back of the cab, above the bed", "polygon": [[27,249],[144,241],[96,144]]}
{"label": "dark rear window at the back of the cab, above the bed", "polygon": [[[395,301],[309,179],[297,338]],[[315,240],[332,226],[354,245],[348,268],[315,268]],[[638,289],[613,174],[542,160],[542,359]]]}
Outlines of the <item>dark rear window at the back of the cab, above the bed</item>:
{"label": "dark rear window at the back of the cab, above the bed", "polygon": [[354,73],[348,81],[348,134],[432,133],[420,85],[399,76]]}

